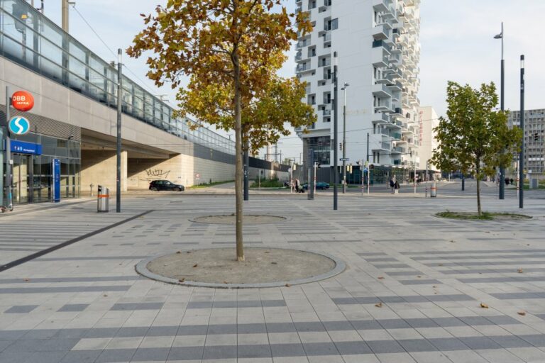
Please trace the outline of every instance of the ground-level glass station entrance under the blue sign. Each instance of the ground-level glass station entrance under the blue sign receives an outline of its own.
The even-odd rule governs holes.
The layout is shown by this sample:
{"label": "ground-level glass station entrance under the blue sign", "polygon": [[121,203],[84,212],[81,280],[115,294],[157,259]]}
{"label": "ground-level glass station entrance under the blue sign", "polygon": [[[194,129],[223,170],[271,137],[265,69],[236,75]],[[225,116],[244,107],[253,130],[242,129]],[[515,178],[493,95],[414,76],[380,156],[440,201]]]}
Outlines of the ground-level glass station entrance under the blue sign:
{"label": "ground-level glass station entrance under the blue sign", "polygon": [[[60,197],[79,197],[80,143],[49,136],[27,134],[12,138],[42,145],[42,155],[12,153],[13,203],[53,200],[53,159],[60,160]],[[5,169],[4,169],[5,170]]]}

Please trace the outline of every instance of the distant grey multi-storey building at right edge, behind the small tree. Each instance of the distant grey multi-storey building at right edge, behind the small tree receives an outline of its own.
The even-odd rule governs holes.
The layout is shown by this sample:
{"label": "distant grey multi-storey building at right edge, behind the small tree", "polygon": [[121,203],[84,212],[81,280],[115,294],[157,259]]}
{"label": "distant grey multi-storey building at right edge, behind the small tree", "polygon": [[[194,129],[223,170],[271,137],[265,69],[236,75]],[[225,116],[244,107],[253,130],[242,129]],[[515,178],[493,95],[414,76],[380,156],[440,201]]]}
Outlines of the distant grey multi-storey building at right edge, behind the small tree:
{"label": "distant grey multi-storey building at right edge, behind the small tree", "polygon": [[[508,124],[511,128],[520,125],[520,111],[510,112]],[[544,140],[545,108],[524,111],[524,170],[527,174],[545,173]]]}

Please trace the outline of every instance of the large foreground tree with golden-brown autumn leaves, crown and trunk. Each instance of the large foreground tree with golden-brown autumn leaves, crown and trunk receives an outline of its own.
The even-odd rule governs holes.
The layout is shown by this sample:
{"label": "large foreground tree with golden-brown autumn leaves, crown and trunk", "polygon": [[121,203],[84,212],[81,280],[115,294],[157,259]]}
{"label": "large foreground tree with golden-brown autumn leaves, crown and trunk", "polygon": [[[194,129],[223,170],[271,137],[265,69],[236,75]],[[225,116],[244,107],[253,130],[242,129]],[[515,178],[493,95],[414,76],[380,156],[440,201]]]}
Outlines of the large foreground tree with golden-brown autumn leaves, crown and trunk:
{"label": "large foreground tree with golden-brown autumn leaves, crown and trunk", "polygon": [[[236,257],[243,261],[243,101],[249,103],[268,88],[284,60],[281,53],[297,40],[297,31],[312,30],[312,25],[304,13],[287,13],[281,0],[168,0],[144,21],[146,28],[127,53],[154,53],[148,57],[148,77],[155,84],[171,82],[178,88],[187,75],[189,92],[219,91],[219,99],[231,97],[224,106],[233,116],[220,122],[235,132]],[[182,89],[178,99],[185,99]],[[211,108],[210,118],[202,121],[213,119],[216,111]]]}

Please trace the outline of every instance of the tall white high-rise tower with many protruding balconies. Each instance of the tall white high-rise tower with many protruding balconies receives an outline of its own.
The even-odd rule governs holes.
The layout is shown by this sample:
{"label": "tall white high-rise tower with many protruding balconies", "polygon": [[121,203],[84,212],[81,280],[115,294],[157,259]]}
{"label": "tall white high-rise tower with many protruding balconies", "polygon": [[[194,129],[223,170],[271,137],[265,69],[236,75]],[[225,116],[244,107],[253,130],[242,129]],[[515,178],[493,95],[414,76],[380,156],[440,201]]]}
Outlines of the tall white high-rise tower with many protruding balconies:
{"label": "tall white high-rise tower with many protruding balconies", "polygon": [[[308,11],[312,33],[299,37],[297,77],[318,115],[297,129],[309,151],[333,165],[342,157],[346,103],[346,157],[378,166],[422,168],[419,156],[419,0],[296,0]],[[338,65],[338,139],[334,138],[334,52]],[[346,90],[341,90],[345,84]],[[346,100],[346,101],[345,101]],[[339,165],[341,162],[339,162]]]}

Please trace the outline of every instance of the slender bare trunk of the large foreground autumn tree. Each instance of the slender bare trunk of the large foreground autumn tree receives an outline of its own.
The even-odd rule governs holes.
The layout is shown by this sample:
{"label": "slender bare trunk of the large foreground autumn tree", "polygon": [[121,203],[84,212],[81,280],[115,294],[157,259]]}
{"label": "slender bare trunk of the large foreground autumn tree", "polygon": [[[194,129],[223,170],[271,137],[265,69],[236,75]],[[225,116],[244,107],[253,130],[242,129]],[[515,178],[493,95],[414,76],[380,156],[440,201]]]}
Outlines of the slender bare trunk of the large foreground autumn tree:
{"label": "slender bare trunk of the large foreground autumn tree", "polygon": [[233,55],[235,86],[235,199],[236,199],[236,259],[244,261],[242,241],[243,218],[243,163],[242,163],[242,122],[241,122],[241,67],[238,54]]}

